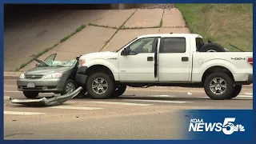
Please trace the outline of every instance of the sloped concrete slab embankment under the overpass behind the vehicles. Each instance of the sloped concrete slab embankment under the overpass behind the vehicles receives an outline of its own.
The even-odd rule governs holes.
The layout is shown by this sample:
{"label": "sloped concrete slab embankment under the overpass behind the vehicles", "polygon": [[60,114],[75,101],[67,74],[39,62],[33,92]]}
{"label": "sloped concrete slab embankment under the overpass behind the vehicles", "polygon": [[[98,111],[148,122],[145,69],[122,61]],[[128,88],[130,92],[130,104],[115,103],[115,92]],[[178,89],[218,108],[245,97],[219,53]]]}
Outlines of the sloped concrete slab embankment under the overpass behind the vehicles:
{"label": "sloped concrete slab embankment under the overpass behind the vehicles", "polygon": [[[117,49],[116,47],[130,41],[130,38],[133,39],[141,34],[158,33],[159,31],[161,33],[169,33],[170,31],[174,33],[189,32],[185,27],[177,28],[176,23],[170,25],[170,14],[164,14],[174,8],[174,4],[108,4],[85,7],[83,5],[72,5],[73,7],[70,5],[33,6],[18,8],[6,5],[7,9],[5,10],[8,12],[5,13],[5,78],[12,78],[12,76],[17,78],[22,73],[21,71],[33,68],[35,62],[30,62],[32,54],[41,54],[38,55],[38,59],[42,60],[52,53],[58,54],[56,59],[74,58],[76,55],[102,51],[102,49],[103,51]],[[40,9],[43,10],[42,7],[49,9],[46,14],[40,11]],[[88,10],[84,10],[85,8]],[[17,15],[15,11],[11,11],[13,9],[18,11],[26,9],[25,15]],[[33,14],[29,13],[30,9],[34,11]],[[30,18],[29,14],[33,18]],[[38,14],[41,15],[35,17]],[[122,17],[120,17],[120,14],[122,14]],[[152,18],[152,14],[155,18]],[[116,19],[116,21],[113,21],[113,19]],[[91,23],[97,26],[90,25]],[[66,38],[82,25],[86,28],[79,31],[78,34]],[[114,29],[111,30],[111,26]],[[168,28],[168,26],[171,27]],[[102,34],[102,31],[104,31],[104,34]],[[123,38],[122,35],[127,33],[130,35],[129,38]],[[38,37],[38,34],[40,34],[40,37]],[[18,35],[22,35],[22,37]],[[98,46],[91,44],[95,41],[95,38],[99,37],[102,42],[98,42]],[[117,39],[118,37],[119,39]],[[62,42],[63,38],[67,40]],[[85,41],[82,41],[81,38],[85,38]],[[90,44],[87,45],[88,42],[86,41]],[[81,48],[85,44],[88,50]],[[98,48],[101,46],[104,47]],[[51,47],[54,48],[46,51]],[[70,47],[75,49],[71,50]],[[18,50],[19,53],[14,53]],[[27,64],[27,62],[30,63]]]}

